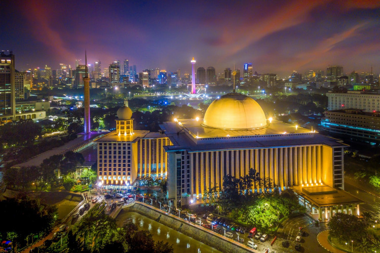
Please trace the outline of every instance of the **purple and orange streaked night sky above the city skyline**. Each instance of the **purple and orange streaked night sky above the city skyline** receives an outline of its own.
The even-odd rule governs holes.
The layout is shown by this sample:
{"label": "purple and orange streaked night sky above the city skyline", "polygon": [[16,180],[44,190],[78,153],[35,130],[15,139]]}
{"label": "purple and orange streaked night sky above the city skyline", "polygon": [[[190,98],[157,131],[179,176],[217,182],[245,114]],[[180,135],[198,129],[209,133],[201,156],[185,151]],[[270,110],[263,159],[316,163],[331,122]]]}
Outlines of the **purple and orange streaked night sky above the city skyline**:
{"label": "purple and orange streaked night sky above the city skyline", "polygon": [[102,68],[129,59],[137,70],[181,74],[214,66],[289,75],[293,70],[380,71],[380,1],[5,1],[1,50],[16,68]]}

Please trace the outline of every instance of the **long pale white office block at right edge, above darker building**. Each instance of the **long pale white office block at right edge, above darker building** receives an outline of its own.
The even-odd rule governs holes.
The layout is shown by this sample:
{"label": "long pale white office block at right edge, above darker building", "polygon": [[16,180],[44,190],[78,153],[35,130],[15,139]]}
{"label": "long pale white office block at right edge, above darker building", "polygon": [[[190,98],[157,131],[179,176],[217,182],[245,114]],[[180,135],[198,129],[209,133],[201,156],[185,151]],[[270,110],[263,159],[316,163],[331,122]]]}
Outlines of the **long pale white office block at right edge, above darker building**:
{"label": "long pale white office block at right edge, above darker building", "polygon": [[362,109],[367,112],[380,111],[380,94],[361,91],[342,93],[328,92],[328,110]]}

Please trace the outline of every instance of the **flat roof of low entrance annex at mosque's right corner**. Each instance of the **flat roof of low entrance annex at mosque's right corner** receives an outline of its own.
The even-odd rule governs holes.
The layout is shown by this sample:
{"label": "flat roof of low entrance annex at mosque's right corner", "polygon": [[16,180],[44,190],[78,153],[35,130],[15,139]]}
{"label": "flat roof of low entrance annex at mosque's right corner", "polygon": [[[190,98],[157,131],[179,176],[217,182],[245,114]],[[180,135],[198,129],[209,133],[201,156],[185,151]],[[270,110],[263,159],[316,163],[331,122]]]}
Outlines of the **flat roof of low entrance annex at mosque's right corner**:
{"label": "flat roof of low entrance annex at mosque's right corner", "polygon": [[355,197],[347,191],[330,186],[291,187],[297,194],[319,207],[340,204],[361,204],[365,201]]}

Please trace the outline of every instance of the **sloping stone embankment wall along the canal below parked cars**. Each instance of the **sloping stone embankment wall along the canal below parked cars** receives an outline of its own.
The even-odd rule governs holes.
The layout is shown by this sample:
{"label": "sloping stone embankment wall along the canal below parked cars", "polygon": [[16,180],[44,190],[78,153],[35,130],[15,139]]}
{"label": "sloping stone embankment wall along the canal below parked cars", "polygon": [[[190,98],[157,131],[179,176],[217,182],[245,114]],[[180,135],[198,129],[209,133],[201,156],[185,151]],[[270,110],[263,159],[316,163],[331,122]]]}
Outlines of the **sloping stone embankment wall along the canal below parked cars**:
{"label": "sloping stone embankment wall along the canal below parked cars", "polygon": [[244,244],[238,243],[218,233],[212,232],[209,229],[205,229],[193,223],[188,223],[179,217],[165,214],[162,210],[150,205],[146,205],[145,203],[136,202],[133,205],[122,207],[123,212],[136,212],[140,215],[148,217],[149,219],[155,220],[165,226],[175,229],[181,232],[182,234],[192,237],[198,241],[201,241],[222,252],[258,253],[257,250],[248,247],[246,245],[246,241],[244,242]]}

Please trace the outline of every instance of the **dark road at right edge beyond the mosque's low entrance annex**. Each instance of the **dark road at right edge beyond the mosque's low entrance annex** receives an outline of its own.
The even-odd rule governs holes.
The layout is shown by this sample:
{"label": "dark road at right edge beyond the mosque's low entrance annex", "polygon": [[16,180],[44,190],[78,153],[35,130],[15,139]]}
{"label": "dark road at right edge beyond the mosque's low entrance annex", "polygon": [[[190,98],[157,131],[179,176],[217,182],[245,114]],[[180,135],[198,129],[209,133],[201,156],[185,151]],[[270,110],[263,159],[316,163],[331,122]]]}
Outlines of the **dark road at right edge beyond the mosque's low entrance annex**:
{"label": "dark road at right edge beyond the mosque's low entrance annex", "polygon": [[368,212],[373,215],[374,220],[380,220],[380,198],[363,191],[345,181],[345,191],[365,201],[360,205],[360,212]]}

